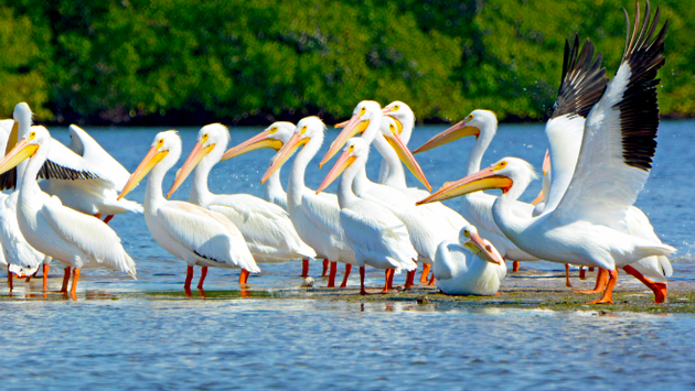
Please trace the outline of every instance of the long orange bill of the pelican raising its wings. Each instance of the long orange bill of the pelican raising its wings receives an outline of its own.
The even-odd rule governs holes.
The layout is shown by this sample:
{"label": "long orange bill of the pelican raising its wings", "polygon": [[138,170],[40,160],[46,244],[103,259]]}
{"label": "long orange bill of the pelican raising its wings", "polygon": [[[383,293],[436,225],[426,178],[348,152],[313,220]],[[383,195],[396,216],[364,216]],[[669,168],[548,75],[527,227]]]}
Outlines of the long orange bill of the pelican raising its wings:
{"label": "long orange bill of the pelican raising its wings", "polygon": [[491,188],[501,188],[502,192],[506,193],[510,187],[512,187],[512,180],[506,176],[498,175],[492,171],[492,167],[488,167],[459,181],[445,183],[440,189],[432,193],[429,197],[418,200],[416,205],[435,203]]}

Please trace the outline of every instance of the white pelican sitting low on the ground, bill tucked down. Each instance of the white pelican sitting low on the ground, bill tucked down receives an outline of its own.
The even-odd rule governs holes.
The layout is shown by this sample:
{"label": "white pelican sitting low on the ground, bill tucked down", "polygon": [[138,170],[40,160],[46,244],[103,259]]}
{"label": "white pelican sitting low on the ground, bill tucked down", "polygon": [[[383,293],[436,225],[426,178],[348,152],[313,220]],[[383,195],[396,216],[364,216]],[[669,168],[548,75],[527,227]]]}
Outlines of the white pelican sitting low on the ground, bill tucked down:
{"label": "white pelican sitting low on the ground, bill tucked down", "polygon": [[446,294],[494,295],[506,275],[498,250],[474,226],[461,229],[458,241],[443,240],[432,265],[437,287]]}

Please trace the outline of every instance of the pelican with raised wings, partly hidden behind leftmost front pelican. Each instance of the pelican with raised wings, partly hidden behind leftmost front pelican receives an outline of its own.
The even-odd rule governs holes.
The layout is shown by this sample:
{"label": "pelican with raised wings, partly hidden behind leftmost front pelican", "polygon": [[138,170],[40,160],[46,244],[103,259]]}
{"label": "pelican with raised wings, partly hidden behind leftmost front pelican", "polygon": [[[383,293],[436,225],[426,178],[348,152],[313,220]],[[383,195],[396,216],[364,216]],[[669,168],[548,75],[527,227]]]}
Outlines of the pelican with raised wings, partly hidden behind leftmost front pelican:
{"label": "pelican with raised wings, partly hidden behind leftmost front pelican", "polygon": [[[8,145],[14,146],[19,129],[29,129],[32,112],[24,102],[14,108],[14,127]],[[56,195],[65,206],[75,210],[100,217],[107,216],[107,222],[114,214],[131,210],[141,213],[142,207],[126,199],[116,199],[117,192],[128,178],[128,172],[114,160],[84,130],[71,127],[71,148],[60,141],[51,140],[51,151],[46,162],[39,171],[44,192]],[[81,155],[81,154],[83,155]],[[3,189],[14,188],[17,173],[9,171],[0,176]]]}

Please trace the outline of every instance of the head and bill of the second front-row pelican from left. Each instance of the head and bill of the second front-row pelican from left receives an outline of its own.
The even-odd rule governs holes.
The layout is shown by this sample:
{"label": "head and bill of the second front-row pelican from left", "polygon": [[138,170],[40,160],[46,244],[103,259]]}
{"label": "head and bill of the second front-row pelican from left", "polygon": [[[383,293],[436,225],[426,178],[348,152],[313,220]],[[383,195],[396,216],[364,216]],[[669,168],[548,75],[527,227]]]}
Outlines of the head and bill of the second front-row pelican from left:
{"label": "head and bill of the second front-row pelican from left", "polygon": [[126,183],[126,186],[118,195],[118,199],[130,193],[157,164],[161,163],[163,167],[169,170],[173,167],[179,156],[181,156],[181,138],[179,133],[175,130],[157,133],[150,150],[142,159],[142,162],[140,162],[140,165],[130,175],[128,183]]}

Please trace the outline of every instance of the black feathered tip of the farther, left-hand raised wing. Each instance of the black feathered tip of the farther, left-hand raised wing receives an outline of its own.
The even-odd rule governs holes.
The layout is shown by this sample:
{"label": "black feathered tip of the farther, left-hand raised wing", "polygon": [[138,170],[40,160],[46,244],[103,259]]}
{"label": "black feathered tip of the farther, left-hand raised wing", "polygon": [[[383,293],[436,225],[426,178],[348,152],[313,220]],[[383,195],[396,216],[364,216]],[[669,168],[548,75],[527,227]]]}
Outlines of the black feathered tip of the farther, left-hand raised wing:
{"label": "black feathered tip of the farther, left-hand raised wing", "polygon": [[587,39],[581,50],[579,34],[575,34],[571,47],[569,41],[565,40],[563,77],[550,118],[564,115],[586,118],[601,98],[608,78],[606,68],[601,67],[603,55],[600,52],[596,56],[594,54],[591,40]]}

